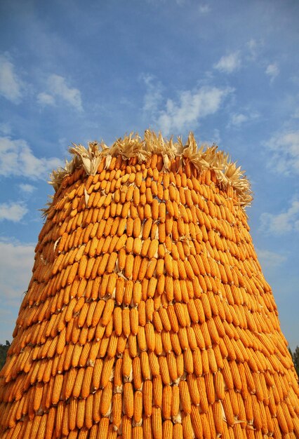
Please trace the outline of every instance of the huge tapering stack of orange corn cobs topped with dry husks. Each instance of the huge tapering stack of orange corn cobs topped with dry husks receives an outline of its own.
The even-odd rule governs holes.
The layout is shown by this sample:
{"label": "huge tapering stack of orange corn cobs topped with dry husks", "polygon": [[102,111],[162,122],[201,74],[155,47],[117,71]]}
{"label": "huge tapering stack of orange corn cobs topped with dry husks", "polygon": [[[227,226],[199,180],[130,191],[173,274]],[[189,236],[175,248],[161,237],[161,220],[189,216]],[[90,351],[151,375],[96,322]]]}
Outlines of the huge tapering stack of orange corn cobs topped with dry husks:
{"label": "huge tapering stack of orange corn cobs topped with dry husks", "polygon": [[243,173],[192,135],[101,146],[53,174],[0,438],[298,438]]}

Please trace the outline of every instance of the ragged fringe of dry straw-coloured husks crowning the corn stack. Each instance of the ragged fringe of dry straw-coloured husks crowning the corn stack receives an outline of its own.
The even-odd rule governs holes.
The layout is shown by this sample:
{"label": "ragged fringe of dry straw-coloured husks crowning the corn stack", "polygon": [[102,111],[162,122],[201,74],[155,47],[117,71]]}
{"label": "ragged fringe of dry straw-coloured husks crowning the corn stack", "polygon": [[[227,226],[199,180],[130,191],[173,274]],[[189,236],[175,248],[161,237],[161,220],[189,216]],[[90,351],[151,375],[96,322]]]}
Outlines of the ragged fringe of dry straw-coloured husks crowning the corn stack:
{"label": "ragged fringe of dry straw-coloured husks crowning the corn stack", "polygon": [[241,167],[230,161],[228,154],[218,151],[218,147],[204,146],[197,147],[197,142],[191,132],[185,144],[178,137],[177,142],[158,135],[150,130],[145,131],[142,139],[138,134],[133,133],[119,138],[111,147],[107,147],[104,142],[90,142],[86,149],[83,145],[73,144],[69,148],[72,154],[72,160],[66,161],[65,168],[59,168],[51,174],[50,184],[55,191],[66,175],[72,174],[75,169],[84,167],[86,174],[95,175],[102,158],[105,158],[105,168],[109,168],[112,157],[121,154],[124,160],[137,157],[139,162],[147,161],[152,154],[159,154],[163,157],[164,170],[168,171],[171,167],[171,161],[180,158],[180,166],[184,166],[186,161],[190,161],[198,170],[213,170],[215,176],[222,187],[231,186],[237,194],[239,204],[242,206],[249,205],[252,201],[251,185],[245,177]]}

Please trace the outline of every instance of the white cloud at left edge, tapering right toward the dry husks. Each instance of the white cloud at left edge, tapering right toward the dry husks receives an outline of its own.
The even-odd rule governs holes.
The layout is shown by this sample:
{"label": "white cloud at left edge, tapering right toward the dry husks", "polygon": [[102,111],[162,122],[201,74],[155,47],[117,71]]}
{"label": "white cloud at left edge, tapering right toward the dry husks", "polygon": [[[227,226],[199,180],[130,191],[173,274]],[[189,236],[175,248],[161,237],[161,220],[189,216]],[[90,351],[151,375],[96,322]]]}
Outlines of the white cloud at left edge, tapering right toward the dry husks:
{"label": "white cloud at left edge, tapering right toward the dry husks", "polygon": [[0,137],[0,175],[20,175],[32,179],[45,178],[51,170],[61,166],[58,158],[38,158],[22,139]]}

